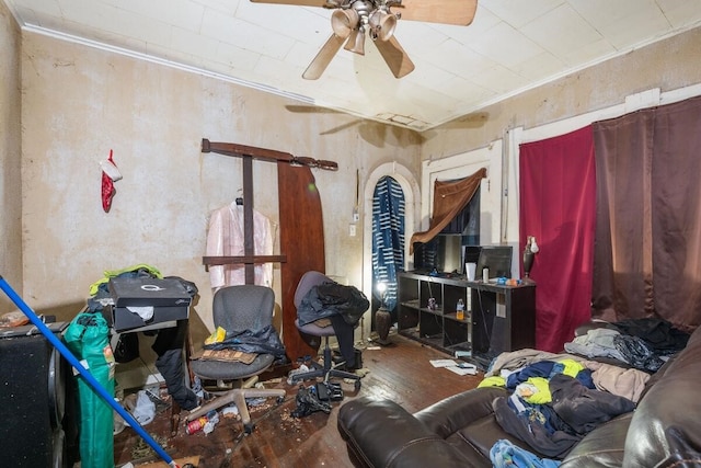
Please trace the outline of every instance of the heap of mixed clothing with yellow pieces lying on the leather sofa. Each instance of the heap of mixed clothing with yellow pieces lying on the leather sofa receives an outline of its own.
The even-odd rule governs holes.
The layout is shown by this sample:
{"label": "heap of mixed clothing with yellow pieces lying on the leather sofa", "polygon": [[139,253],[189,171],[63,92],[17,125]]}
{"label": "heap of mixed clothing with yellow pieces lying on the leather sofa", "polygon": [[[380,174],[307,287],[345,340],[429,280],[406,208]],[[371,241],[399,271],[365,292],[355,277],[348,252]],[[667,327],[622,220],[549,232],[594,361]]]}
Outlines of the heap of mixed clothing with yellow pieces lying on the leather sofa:
{"label": "heap of mixed clothing with yellow pieces lying on the leather sofa", "polygon": [[[688,340],[658,318],[606,323],[565,343],[571,354],[502,353],[480,387],[509,390],[493,402],[502,429],[533,452],[562,459],[598,425],[633,411],[651,374]],[[596,361],[600,357],[620,365]]]}

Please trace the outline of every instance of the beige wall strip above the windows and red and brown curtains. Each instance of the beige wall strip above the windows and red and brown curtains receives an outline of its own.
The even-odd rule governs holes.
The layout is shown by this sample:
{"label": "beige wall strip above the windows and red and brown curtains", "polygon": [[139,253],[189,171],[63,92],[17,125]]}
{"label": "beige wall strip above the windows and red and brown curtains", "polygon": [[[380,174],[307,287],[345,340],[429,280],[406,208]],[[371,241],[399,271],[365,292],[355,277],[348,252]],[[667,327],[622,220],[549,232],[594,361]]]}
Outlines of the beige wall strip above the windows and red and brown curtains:
{"label": "beige wall strip above the windows and red and brown curtains", "polygon": [[526,129],[623,102],[653,88],[701,83],[701,27],[573,73],[424,133],[422,159],[487,146],[515,127]]}

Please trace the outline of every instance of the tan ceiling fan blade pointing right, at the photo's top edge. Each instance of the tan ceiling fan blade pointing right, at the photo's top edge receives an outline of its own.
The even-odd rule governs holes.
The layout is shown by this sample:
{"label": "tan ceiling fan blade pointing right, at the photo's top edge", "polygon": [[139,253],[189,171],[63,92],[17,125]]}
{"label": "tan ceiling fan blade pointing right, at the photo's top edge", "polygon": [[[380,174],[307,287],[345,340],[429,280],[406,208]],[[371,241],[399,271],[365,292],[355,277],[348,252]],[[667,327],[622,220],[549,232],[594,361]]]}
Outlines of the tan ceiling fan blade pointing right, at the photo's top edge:
{"label": "tan ceiling fan blade pointing right, at the photo's top edge", "polygon": [[401,7],[393,7],[394,13],[402,14],[402,20],[459,26],[472,23],[476,9],[478,0],[402,0]]}

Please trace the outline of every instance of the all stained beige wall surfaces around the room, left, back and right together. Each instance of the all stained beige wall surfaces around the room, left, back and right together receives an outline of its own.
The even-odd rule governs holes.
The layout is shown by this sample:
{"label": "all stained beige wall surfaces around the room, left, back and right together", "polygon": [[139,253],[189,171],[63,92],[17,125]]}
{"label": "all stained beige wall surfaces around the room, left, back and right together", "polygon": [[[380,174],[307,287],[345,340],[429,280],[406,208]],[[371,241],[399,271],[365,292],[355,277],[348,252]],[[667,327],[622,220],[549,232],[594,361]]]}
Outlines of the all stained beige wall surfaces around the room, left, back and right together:
{"label": "all stained beige wall surfaces around the room, left, back and right together", "polygon": [[[211,296],[202,265],[207,217],[237,196],[241,175],[237,159],[200,153],[203,137],[337,161],[338,172],[314,172],[324,209],[326,272],[360,285],[363,226],[359,236],[348,236],[356,170],[363,193],[367,175],[386,162],[398,160],[418,179],[420,158],[484,147],[506,129],[601,109],[633,92],[701,82],[698,28],[417,136],[25,33],[20,99],[19,32],[1,3],[0,14],[0,213],[3,241],[8,239],[0,259],[11,274],[2,273],[21,285],[33,307],[68,318],[82,307],[90,284],[103,271],[149,263],[200,287],[197,311],[210,326]],[[116,183],[112,212],[105,214],[97,163],[111,148],[124,179]],[[257,209],[276,219],[275,171],[256,163],[254,176]],[[276,278],[279,286],[279,275]]]}

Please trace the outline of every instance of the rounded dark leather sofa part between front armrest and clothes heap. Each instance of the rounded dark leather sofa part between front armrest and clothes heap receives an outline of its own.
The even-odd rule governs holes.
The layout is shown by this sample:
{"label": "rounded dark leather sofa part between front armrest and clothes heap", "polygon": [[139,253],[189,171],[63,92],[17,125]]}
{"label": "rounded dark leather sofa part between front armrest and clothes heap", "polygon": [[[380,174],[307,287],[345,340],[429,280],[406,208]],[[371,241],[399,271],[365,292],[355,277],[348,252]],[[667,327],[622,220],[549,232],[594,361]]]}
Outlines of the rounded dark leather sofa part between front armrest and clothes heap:
{"label": "rounded dark leather sofa part between front armrest and clothes heap", "polygon": [[507,395],[504,388],[475,388],[440,400],[414,415],[432,433],[448,438],[474,421],[494,414],[492,402],[495,398]]}

